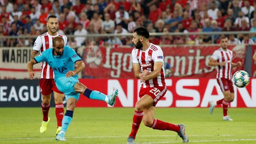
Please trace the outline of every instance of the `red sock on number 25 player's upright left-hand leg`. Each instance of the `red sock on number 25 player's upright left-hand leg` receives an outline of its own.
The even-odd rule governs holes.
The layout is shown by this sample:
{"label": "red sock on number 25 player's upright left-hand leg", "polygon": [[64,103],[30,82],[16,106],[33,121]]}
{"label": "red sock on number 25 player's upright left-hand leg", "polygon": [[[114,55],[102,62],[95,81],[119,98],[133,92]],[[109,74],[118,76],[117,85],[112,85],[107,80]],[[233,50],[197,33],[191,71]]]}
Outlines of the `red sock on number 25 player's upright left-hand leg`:
{"label": "red sock on number 25 player's upright left-hand leg", "polygon": [[143,111],[137,112],[135,110],[133,115],[133,120],[132,120],[132,132],[130,133],[129,137],[132,136],[135,139],[138,129],[140,127],[142,118],[143,118]]}

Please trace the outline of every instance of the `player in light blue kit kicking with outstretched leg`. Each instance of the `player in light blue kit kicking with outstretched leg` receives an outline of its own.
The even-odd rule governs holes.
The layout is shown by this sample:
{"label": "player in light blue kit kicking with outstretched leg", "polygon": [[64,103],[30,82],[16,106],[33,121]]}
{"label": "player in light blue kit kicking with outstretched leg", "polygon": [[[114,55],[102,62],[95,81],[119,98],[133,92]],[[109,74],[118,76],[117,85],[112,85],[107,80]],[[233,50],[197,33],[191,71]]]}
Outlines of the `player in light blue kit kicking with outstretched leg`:
{"label": "player in light blue kit kicking with outstretched leg", "polygon": [[[72,120],[74,108],[80,94],[84,94],[84,96],[90,99],[102,100],[113,106],[115,104],[118,90],[115,89],[113,94],[107,96],[101,92],[88,89],[84,84],[81,84],[78,81],[77,74],[85,67],[81,58],[72,48],[64,46],[64,40],[61,37],[55,37],[52,40],[52,44],[53,48],[45,50],[28,62],[28,73],[30,79],[33,79],[35,76],[35,72],[33,72],[33,65],[42,61],[47,62],[54,70],[56,86],[58,90],[67,96],[67,111],[62,120],[62,129],[56,136],[56,140],[66,140],[65,132]],[[74,64],[77,65],[76,68],[74,68]]]}

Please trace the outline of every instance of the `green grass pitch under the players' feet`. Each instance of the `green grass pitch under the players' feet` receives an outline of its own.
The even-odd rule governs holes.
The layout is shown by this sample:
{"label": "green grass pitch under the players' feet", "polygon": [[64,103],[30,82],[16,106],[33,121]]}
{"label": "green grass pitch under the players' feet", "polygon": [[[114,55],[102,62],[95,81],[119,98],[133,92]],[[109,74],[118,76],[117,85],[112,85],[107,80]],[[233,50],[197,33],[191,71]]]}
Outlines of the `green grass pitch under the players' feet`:
{"label": "green grass pitch under the players' feet", "polygon": [[[47,131],[40,134],[41,108],[0,108],[0,144],[126,144],[134,108],[76,108],[66,142],[56,141],[55,108]],[[229,108],[233,122],[222,120],[222,108],[156,108],[155,118],[186,125],[189,143],[256,144],[256,109]],[[153,130],[142,123],[136,144],[182,143],[176,132]]]}

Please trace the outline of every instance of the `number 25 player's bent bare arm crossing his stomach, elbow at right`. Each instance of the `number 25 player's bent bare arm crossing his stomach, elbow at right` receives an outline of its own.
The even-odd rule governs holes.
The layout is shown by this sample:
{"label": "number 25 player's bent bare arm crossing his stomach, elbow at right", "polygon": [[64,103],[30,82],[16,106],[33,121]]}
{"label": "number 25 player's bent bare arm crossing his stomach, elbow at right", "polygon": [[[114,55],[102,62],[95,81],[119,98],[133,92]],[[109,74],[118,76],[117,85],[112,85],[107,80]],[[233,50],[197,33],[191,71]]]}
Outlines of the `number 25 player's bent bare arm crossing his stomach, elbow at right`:
{"label": "number 25 player's bent bare arm crossing his stomach, elbow at right", "polygon": [[163,66],[163,62],[155,62],[153,72],[151,72],[148,75],[140,74],[140,80],[144,82],[146,80],[152,80],[153,78],[158,77],[162,70],[162,66]]}

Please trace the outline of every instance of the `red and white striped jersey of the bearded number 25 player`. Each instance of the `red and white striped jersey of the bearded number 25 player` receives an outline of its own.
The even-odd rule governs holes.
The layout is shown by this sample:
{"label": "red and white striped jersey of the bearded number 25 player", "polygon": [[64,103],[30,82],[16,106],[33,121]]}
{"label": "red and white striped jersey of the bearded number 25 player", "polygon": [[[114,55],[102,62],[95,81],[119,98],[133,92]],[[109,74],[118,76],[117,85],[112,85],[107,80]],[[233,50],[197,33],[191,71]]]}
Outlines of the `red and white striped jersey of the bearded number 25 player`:
{"label": "red and white striped jersey of the bearded number 25 player", "polygon": [[147,80],[141,83],[142,88],[152,88],[156,86],[166,86],[165,71],[164,71],[164,54],[160,46],[150,43],[147,50],[134,48],[132,50],[132,63],[140,64],[140,71],[148,70],[152,72],[154,70],[154,63],[162,62],[163,66],[158,77]]}

